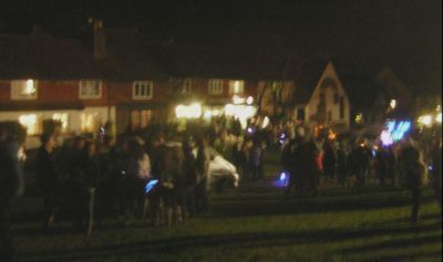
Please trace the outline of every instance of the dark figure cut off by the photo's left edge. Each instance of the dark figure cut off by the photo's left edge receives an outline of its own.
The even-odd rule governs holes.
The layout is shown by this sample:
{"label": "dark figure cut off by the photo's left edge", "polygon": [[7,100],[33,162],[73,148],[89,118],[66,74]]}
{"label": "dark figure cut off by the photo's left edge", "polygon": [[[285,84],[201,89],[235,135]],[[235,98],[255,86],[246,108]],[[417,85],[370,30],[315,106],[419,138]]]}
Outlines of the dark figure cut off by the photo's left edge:
{"label": "dark figure cut off by the photo's left edge", "polygon": [[10,138],[0,140],[0,261],[12,261],[14,256],[10,212],[13,199],[24,190],[22,165],[18,157],[22,143],[13,136]]}

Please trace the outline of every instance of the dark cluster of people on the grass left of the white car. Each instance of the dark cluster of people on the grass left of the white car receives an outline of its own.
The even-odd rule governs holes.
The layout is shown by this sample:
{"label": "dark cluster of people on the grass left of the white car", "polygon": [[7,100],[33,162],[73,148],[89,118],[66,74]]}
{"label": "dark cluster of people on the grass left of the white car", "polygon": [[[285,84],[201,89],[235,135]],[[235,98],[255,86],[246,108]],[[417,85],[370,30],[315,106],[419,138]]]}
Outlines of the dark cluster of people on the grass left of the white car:
{"label": "dark cluster of people on the grass left of the white car", "polygon": [[41,142],[35,172],[45,231],[53,227],[56,213],[63,212],[61,203],[68,203],[78,229],[110,216],[126,226],[134,216],[144,216],[155,226],[171,226],[209,209],[205,137],[169,145],[156,134],[146,143],[123,137],[113,146],[78,136],[54,148],[54,136],[44,134]]}

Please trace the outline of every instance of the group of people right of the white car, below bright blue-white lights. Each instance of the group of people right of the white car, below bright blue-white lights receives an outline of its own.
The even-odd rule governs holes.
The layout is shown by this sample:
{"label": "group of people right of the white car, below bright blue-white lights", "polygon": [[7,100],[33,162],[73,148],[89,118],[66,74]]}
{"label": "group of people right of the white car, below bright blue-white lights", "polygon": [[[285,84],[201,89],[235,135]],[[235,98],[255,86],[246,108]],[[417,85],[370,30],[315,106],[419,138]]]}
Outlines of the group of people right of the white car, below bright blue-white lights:
{"label": "group of people right of the white car, below bright blue-white lights", "polygon": [[319,138],[295,128],[281,150],[281,164],[289,176],[286,192],[298,196],[318,193],[320,178],[336,180],[338,186],[363,187],[369,177],[385,185],[406,188],[411,191],[411,222],[416,223],[423,186],[431,184],[442,207],[442,145],[439,139],[430,151],[421,149],[419,143],[409,137],[394,145],[381,142],[370,144],[365,139],[337,142],[334,137]]}

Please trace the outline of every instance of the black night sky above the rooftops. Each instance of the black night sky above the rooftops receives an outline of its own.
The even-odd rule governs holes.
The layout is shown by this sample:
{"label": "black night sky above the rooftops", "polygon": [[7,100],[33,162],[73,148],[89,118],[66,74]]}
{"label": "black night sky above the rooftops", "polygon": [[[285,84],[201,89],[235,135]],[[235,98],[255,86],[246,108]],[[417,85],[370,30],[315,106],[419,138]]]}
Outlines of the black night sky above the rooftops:
{"label": "black night sky above the rooftops", "polygon": [[35,0],[0,10],[0,33],[28,33],[33,24],[63,31],[94,17],[107,28],[137,27],[176,41],[329,54],[349,71],[389,65],[415,88],[435,88],[442,71],[441,0]]}

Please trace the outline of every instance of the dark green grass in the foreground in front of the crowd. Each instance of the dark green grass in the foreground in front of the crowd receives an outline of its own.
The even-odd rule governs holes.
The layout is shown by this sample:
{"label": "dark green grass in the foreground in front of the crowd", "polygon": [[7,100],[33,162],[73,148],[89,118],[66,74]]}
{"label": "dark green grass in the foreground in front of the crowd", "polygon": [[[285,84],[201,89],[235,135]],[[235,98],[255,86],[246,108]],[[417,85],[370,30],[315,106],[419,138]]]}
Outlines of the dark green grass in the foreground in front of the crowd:
{"label": "dark green grass in the foreground in front of the crowd", "polygon": [[213,197],[205,217],[172,228],[109,220],[89,239],[56,224],[16,223],[19,261],[442,261],[442,230],[432,192],[409,223],[401,190],[329,190],[317,198],[279,191]]}

